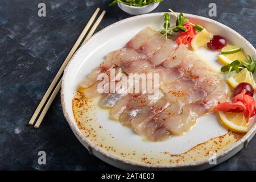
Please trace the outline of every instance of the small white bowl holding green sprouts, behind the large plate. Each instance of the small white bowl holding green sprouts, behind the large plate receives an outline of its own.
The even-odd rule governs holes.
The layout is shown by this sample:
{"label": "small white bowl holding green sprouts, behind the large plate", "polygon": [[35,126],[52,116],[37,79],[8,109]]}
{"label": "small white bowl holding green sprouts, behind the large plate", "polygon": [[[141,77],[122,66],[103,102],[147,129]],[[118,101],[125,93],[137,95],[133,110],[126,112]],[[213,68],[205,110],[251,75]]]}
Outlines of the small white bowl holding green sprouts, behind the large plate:
{"label": "small white bowl holding green sprouts, behind the large plate", "polygon": [[156,9],[158,5],[159,3],[151,3],[146,6],[129,6],[129,5],[125,5],[123,3],[118,2],[119,8],[130,15],[141,15],[141,14],[150,13],[151,11]]}

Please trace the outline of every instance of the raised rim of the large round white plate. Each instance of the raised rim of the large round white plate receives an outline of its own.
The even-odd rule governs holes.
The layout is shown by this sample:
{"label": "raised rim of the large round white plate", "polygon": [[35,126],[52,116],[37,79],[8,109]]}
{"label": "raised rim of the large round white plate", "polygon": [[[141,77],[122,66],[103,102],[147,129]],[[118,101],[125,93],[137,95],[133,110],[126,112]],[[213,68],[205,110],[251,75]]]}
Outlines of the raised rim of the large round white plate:
{"label": "raised rim of the large round white plate", "polygon": [[[135,20],[135,19],[139,19],[139,18],[143,18],[146,16],[158,16],[158,15],[163,15],[164,13],[168,13],[168,12],[160,12],[160,13],[149,13],[149,14],[143,14],[143,15],[137,15],[137,16],[131,16],[129,18],[126,19],[122,19],[119,20],[118,22],[115,22],[113,24],[110,24],[109,26],[103,28],[102,30],[98,31],[96,34],[94,34],[92,36],[92,38],[86,40],[84,43],[82,43],[81,47],[79,49],[77,49],[77,51],[75,52],[75,54],[72,56],[71,60],[69,61],[69,63],[67,64],[67,66],[64,69],[64,73],[63,73],[63,80],[61,83],[61,106],[63,107],[63,113],[64,116],[69,124],[69,126],[71,127],[73,133],[76,135],[77,139],[79,139],[79,141],[82,143],[82,145],[89,151],[92,152],[92,150],[95,150],[96,152],[99,152],[101,155],[106,156],[107,158],[110,158],[112,160],[114,160],[115,162],[121,162],[121,163],[126,163],[126,164],[130,164],[132,166],[138,166],[138,167],[146,167],[146,168],[158,168],[158,169],[164,169],[164,168],[183,168],[183,167],[196,167],[196,166],[203,166],[204,164],[208,164],[208,159],[202,159],[202,160],[197,160],[196,162],[187,162],[187,163],[179,163],[179,164],[145,164],[145,163],[139,163],[139,162],[133,162],[131,160],[127,160],[127,159],[123,159],[123,158],[119,158],[118,156],[109,154],[108,152],[102,150],[101,148],[99,148],[98,146],[96,146],[94,143],[92,143],[90,140],[87,140],[84,135],[82,135],[81,130],[79,129],[79,127],[77,125],[75,125],[75,123],[72,121],[72,119],[69,117],[69,114],[67,112],[67,108],[65,107],[65,101],[64,101],[64,90],[65,90],[65,78],[67,76],[67,72],[69,69],[69,66],[72,64],[72,62],[74,60],[76,60],[76,56],[79,54],[79,52],[81,51],[81,49],[90,41],[92,41],[97,35],[101,34],[104,31],[107,31],[109,28],[113,27],[113,26],[117,26],[120,23],[129,21],[129,20]],[[175,12],[176,13],[176,12]],[[176,13],[177,14],[177,13]],[[221,26],[225,29],[228,29],[229,31],[233,32],[236,36],[240,37],[240,39],[243,40],[243,42],[245,42],[247,44],[247,46],[250,47],[250,49],[254,50],[254,52],[256,53],[255,48],[253,47],[253,45],[251,45],[251,43],[246,40],[245,38],[243,38],[242,35],[240,35],[238,32],[234,31],[232,28],[226,26],[225,24],[222,24],[220,22],[217,22],[216,20],[210,19],[210,18],[206,18],[204,16],[199,16],[199,15],[193,15],[193,14],[187,14],[184,13],[185,16],[189,16],[189,18],[197,18],[197,19],[201,19],[201,20],[205,20],[208,21],[210,23],[213,24],[217,24],[218,26]],[[249,132],[247,132],[240,140],[238,140],[238,142],[232,144],[232,146],[230,146],[229,148],[226,148],[225,150],[221,151],[218,153],[217,155],[217,159],[223,158],[225,155],[227,155],[229,152],[235,150],[237,147],[241,146],[241,144],[244,144],[243,146],[246,146],[247,143],[250,141],[251,138],[254,137],[256,133],[256,125],[254,125]],[[86,147],[87,145],[87,147]],[[240,151],[240,150],[239,150]],[[94,152],[92,152],[94,153]],[[95,155],[95,154],[94,154]],[[232,155],[233,156],[233,155]],[[230,156],[231,157],[231,156]],[[229,157],[229,158],[230,158]],[[101,158],[100,158],[101,159]],[[101,159],[103,160],[103,159]]]}

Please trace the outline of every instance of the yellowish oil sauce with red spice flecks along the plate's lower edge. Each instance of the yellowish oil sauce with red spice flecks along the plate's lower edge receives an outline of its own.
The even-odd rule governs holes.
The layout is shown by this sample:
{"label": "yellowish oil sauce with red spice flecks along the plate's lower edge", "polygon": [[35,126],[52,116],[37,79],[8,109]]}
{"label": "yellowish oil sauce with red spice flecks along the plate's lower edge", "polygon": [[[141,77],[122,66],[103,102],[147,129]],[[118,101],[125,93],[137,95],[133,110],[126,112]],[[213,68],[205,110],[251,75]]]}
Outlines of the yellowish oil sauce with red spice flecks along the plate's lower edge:
{"label": "yellowish oil sauce with red spice flecks along the plate's lower edge", "polygon": [[[213,153],[218,154],[218,152],[224,151],[240,140],[244,135],[228,131],[228,133],[224,135],[210,138],[203,143],[198,143],[180,154],[172,154],[172,152],[164,150],[152,151],[148,148],[141,148],[121,142],[118,138],[114,137],[113,134],[109,133],[98,121],[100,118],[97,118],[97,112],[101,111],[97,106],[99,99],[100,98],[87,100],[80,91],[77,91],[72,101],[73,114],[77,126],[88,142],[93,143],[94,146],[100,148],[100,150],[104,151],[106,154],[113,155],[121,160],[155,165],[197,162],[210,158]],[[120,123],[117,124],[121,125]],[[132,133],[131,136],[133,135],[137,134]],[[127,138],[127,140],[129,140],[129,138]],[[142,142],[145,141],[142,139]]]}

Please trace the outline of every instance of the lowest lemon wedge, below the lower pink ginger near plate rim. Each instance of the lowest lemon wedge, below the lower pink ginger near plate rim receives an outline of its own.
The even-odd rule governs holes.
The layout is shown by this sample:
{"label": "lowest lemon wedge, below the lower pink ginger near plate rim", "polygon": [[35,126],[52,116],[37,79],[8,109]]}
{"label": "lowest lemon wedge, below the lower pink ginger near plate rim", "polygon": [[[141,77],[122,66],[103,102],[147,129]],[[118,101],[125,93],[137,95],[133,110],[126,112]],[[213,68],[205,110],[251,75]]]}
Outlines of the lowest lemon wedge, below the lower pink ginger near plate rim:
{"label": "lowest lemon wedge, below the lower pink ginger near plate rim", "polygon": [[247,122],[243,113],[230,113],[218,111],[221,123],[228,129],[246,133],[248,131]]}

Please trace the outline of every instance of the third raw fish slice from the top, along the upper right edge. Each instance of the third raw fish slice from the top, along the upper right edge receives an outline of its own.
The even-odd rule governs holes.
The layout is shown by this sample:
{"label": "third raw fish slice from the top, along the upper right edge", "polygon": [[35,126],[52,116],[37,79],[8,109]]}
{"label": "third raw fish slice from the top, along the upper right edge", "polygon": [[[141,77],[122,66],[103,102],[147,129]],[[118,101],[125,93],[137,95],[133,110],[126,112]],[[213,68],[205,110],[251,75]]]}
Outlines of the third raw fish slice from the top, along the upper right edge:
{"label": "third raw fish slice from the top, along the upper right edge", "polygon": [[148,60],[158,66],[163,63],[164,60],[169,59],[177,48],[177,44],[173,42],[172,44],[168,44],[166,46],[161,47],[158,51],[156,51],[152,56],[148,58]]}

